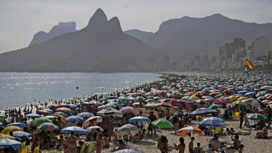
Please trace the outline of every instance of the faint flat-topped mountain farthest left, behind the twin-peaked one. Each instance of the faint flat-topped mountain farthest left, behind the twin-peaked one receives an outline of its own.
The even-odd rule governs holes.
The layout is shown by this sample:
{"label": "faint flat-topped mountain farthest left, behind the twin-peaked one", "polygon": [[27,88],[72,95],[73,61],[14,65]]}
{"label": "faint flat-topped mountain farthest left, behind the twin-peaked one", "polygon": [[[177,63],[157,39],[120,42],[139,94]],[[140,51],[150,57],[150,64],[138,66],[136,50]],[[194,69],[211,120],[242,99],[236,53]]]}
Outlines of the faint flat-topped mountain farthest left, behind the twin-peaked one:
{"label": "faint flat-topped mountain farthest left, behind the twin-peaked one", "polygon": [[45,42],[49,39],[52,39],[61,34],[65,34],[68,32],[75,32],[76,30],[76,22],[60,22],[58,25],[53,26],[53,28],[48,32],[40,31],[33,36],[29,46],[33,44],[38,44],[41,42]]}

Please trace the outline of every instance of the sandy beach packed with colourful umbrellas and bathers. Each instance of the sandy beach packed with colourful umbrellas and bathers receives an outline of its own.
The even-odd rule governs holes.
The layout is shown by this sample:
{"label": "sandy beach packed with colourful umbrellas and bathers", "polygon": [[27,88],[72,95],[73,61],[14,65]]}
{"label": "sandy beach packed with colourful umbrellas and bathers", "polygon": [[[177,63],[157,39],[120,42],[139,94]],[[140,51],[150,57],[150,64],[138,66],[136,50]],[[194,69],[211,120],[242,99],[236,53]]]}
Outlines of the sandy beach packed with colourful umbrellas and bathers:
{"label": "sandy beach packed with colourful umbrellas and bathers", "polygon": [[0,115],[0,153],[270,152],[269,74],[162,74],[107,95]]}

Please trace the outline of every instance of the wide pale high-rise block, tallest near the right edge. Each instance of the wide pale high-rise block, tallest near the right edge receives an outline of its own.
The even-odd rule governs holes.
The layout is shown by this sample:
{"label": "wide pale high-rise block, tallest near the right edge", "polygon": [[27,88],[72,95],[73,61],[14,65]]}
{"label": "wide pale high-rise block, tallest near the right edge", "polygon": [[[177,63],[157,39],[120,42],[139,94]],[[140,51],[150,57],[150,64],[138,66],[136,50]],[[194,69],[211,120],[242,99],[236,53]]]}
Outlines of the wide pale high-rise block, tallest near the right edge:
{"label": "wide pale high-rise block, tallest near the right edge", "polygon": [[270,41],[268,37],[261,36],[253,41],[254,58],[262,58],[266,56],[266,51],[270,49]]}

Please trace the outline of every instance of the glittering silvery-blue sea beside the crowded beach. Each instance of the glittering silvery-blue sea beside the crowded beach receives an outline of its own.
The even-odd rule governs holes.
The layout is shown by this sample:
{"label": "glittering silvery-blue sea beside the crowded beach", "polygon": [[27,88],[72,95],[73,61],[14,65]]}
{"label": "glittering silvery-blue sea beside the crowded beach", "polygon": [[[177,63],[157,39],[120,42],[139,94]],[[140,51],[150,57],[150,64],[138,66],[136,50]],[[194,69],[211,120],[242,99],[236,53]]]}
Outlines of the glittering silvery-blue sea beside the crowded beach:
{"label": "glittering silvery-blue sea beside the crowded beach", "polygon": [[51,99],[109,94],[160,80],[159,76],[153,73],[0,73],[0,111]]}

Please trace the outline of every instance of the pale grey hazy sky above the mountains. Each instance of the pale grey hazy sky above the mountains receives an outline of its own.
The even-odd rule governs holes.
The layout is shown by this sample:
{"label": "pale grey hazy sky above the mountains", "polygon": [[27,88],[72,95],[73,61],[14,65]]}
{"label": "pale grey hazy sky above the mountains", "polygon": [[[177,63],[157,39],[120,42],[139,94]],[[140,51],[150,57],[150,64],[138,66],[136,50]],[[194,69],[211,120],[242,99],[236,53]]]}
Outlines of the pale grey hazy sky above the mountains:
{"label": "pale grey hazy sky above the mountains", "polygon": [[123,31],[156,32],[169,19],[220,13],[245,22],[272,22],[272,0],[0,0],[0,53],[25,48],[33,35],[59,22],[84,28],[96,9],[117,16]]}

